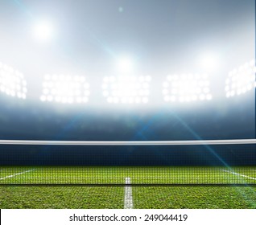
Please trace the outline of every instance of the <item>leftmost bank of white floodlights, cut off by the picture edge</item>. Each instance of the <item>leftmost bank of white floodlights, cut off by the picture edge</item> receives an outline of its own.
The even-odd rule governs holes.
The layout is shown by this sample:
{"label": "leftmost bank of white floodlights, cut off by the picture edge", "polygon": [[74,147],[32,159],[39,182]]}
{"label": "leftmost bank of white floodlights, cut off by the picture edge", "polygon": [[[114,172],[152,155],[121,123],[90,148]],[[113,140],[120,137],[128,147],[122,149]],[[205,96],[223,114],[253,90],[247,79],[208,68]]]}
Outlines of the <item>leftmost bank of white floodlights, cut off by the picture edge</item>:
{"label": "leftmost bank of white floodlights, cut off by the picture edge", "polygon": [[27,82],[21,72],[0,62],[0,92],[26,99]]}

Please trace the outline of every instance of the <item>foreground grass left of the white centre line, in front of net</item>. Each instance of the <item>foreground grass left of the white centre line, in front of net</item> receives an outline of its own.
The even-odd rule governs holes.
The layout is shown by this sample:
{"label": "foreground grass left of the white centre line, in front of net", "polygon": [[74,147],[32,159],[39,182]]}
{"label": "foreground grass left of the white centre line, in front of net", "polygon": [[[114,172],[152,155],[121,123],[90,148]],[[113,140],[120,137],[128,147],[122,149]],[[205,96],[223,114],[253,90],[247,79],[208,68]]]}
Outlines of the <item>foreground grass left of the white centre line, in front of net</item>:
{"label": "foreground grass left of the white centre line, in front of net", "polygon": [[114,186],[1,186],[0,208],[123,208],[124,189]]}

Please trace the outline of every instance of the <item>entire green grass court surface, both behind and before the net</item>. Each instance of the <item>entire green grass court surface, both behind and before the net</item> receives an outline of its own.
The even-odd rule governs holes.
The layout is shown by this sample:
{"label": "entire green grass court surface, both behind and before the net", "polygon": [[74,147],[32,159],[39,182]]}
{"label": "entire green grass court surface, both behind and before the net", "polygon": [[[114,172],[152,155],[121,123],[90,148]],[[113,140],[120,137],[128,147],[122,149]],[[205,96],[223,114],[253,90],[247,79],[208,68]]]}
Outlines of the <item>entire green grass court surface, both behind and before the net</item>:
{"label": "entire green grass court surface, both behind and before the net", "polygon": [[256,208],[256,166],[9,166],[0,184],[1,208],[118,209],[127,188],[134,209]]}

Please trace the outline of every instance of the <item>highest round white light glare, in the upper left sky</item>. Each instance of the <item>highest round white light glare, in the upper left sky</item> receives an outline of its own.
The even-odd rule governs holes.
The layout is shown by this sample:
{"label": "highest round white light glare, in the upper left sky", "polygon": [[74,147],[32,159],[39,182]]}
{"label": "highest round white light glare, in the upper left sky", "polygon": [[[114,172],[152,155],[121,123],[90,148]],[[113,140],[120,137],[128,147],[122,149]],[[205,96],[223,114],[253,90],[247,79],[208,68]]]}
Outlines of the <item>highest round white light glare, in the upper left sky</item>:
{"label": "highest round white light glare, in the upper left sky", "polygon": [[54,36],[53,24],[47,20],[38,21],[34,25],[34,36],[39,41],[47,41]]}

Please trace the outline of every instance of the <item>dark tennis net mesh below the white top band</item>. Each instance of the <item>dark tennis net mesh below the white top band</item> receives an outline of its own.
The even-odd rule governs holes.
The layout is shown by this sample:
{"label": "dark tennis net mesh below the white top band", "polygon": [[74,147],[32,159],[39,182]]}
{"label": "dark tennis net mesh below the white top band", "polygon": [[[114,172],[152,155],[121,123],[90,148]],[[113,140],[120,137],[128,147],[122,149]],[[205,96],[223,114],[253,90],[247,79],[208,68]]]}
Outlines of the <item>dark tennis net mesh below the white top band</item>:
{"label": "dark tennis net mesh below the white top band", "polygon": [[1,144],[0,185],[256,185],[256,145],[244,142]]}

